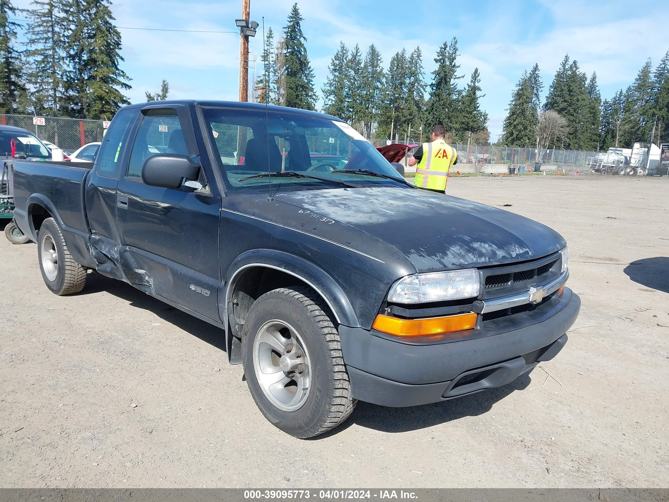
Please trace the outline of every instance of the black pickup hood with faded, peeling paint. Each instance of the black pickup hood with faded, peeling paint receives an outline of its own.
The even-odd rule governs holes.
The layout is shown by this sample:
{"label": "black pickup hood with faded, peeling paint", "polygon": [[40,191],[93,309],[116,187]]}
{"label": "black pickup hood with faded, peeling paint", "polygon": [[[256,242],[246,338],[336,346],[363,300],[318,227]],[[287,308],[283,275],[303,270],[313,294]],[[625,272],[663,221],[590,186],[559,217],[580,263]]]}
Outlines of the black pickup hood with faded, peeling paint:
{"label": "black pickup hood with faded, peeling paint", "polygon": [[566,244],[557,232],[524,216],[417,189],[302,190],[277,194],[276,200],[369,234],[418,272],[531,260]]}

